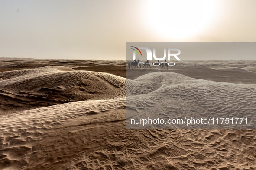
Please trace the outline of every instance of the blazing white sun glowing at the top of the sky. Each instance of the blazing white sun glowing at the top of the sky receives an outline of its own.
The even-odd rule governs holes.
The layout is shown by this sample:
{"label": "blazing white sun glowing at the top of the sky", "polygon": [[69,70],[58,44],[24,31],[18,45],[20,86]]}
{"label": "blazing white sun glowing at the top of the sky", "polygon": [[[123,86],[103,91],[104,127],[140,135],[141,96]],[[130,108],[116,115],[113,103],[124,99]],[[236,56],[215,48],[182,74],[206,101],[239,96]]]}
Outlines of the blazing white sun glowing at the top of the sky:
{"label": "blazing white sun glowing at the top of the sky", "polygon": [[217,0],[147,0],[143,20],[155,35],[189,38],[210,28],[218,9]]}

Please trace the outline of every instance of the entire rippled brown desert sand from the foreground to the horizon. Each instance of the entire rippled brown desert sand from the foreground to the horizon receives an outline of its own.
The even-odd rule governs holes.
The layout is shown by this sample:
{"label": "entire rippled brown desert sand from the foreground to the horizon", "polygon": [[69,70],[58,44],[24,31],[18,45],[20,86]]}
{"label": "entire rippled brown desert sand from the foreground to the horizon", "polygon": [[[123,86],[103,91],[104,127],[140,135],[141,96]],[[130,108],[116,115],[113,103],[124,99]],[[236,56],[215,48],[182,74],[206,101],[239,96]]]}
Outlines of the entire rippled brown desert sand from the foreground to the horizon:
{"label": "entire rippled brown desert sand from the foreground to the horizon", "polygon": [[151,108],[142,96],[174,116],[239,110],[255,125],[256,61],[126,64],[1,58],[0,170],[256,169],[255,129],[126,129],[126,109]]}

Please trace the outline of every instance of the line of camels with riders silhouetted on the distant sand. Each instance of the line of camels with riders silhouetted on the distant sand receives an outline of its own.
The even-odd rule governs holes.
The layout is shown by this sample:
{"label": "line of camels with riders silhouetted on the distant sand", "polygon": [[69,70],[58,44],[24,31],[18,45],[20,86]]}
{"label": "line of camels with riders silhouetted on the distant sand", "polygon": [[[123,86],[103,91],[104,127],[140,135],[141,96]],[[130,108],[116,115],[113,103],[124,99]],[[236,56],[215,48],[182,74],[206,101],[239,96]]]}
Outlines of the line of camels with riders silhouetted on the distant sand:
{"label": "line of camels with riders silhouetted on the distant sand", "polygon": [[[157,64],[155,65],[155,63],[157,63]],[[131,67],[131,69],[136,69],[136,67],[137,67],[137,69],[141,69],[141,66],[143,66],[143,69],[148,69],[148,68],[151,69],[151,66],[156,66],[156,69],[161,68],[161,70],[162,70],[163,68],[165,69],[165,67],[167,67],[167,69],[165,69],[165,70],[168,70],[168,64],[167,64],[166,60],[164,63],[160,63],[159,60],[155,63],[152,63],[152,62],[149,63],[149,60],[146,60],[145,62],[139,62],[139,59],[138,59],[138,61],[134,60],[133,62],[128,63],[128,67],[129,67],[129,69],[130,69],[130,67]],[[174,65],[172,65],[172,66],[174,66]]]}

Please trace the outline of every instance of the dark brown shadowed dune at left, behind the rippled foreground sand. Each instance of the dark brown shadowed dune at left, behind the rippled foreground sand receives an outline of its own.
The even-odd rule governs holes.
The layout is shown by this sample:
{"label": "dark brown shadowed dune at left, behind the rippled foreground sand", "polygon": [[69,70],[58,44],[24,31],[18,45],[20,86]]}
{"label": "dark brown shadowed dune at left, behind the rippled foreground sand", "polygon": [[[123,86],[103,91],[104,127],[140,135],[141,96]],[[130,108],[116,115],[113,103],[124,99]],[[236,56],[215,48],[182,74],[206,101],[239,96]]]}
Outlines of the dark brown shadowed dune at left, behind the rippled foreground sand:
{"label": "dark brown shadowed dune at left, behind the rippled foreground sand", "polygon": [[121,98],[126,80],[107,73],[63,66],[1,72],[0,112],[72,101]]}

